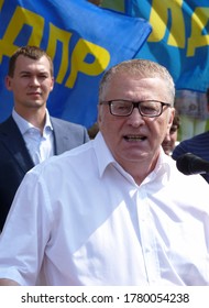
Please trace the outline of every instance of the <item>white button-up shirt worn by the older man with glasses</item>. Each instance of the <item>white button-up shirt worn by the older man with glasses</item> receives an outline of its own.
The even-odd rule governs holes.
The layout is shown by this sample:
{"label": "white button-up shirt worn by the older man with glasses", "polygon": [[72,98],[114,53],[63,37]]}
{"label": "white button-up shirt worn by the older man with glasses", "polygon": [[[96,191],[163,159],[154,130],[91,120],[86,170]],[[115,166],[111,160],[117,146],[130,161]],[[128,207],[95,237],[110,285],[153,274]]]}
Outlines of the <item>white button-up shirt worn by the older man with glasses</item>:
{"label": "white button-up shirt worn by the older man with glasses", "polygon": [[138,186],[98,133],[28,173],[0,238],[0,277],[34,285],[44,266],[48,285],[209,285],[208,200],[206,180],[163,150]]}

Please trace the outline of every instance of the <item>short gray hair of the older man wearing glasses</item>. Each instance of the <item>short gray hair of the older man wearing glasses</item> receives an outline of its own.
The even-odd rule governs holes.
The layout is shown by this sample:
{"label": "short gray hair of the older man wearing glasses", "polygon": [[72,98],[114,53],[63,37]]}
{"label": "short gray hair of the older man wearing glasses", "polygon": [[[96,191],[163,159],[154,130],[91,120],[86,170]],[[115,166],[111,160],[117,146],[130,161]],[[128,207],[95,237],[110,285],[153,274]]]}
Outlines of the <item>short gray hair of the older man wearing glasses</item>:
{"label": "short gray hair of the older man wearing glasses", "polygon": [[170,103],[174,106],[174,98],[175,98],[175,85],[173,77],[168,73],[168,70],[160,65],[158,63],[147,61],[147,59],[130,59],[124,61],[120,64],[112,66],[109,70],[107,70],[101,80],[99,86],[99,101],[105,100],[106,89],[110,85],[110,81],[113,76],[120,73],[127,73],[131,76],[138,76],[142,78],[161,78],[167,85],[167,90]]}

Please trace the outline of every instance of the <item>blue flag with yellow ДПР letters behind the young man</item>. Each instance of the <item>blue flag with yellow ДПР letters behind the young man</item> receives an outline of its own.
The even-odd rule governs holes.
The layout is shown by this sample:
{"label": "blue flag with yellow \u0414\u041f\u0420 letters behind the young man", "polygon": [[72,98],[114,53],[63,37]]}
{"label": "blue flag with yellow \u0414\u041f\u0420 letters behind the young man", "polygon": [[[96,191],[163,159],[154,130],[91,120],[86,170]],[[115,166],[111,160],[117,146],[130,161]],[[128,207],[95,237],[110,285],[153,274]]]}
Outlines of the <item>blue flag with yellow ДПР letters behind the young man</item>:
{"label": "blue flag with yellow \u0414\u041f\u0420 letters behind the young man", "polygon": [[4,77],[18,47],[40,46],[54,62],[55,87],[47,102],[51,116],[89,128],[97,120],[103,72],[133,58],[150,33],[145,20],[85,0],[0,0],[0,122],[13,107]]}

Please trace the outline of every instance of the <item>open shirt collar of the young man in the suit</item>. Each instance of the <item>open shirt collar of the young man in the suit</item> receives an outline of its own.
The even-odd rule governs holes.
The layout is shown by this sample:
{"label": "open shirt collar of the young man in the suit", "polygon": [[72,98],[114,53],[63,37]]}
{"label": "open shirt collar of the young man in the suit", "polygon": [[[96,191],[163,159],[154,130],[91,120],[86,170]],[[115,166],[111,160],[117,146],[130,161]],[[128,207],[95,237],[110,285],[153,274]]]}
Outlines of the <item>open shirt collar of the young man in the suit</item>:
{"label": "open shirt collar of the young man in the suit", "polygon": [[[33,124],[31,124],[24,118],[22,118],[20,114],[18,114],[14,109],[12,110],[12,118],[13,118],[14,122],[16,123],[16,125],[19,127],[22,135],[26,131],[29,131],[29,129],[34,128]],[[45,122],[45,125],[44,125],[44,131],[48,130],[48,129],[53,130],[53,125],[51,123],[50,113],[48,113],[48,111],[46,109],[46,122]]]}

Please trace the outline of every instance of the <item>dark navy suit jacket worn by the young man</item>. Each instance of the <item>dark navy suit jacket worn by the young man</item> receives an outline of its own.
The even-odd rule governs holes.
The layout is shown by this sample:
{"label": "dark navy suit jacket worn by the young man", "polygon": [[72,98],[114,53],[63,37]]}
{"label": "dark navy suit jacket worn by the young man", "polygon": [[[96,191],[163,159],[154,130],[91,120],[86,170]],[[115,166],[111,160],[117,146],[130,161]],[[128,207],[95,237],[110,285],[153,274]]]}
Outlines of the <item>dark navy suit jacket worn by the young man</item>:
{"label": "dark navy suit jacket worn by the young man", "polygon": [[[89,140],[86,128],[61,119],[52,118],[55,155],[72,150]],[[34,163],[24,139],[10,117],[0,123],[0,231],[24,175]]]}

